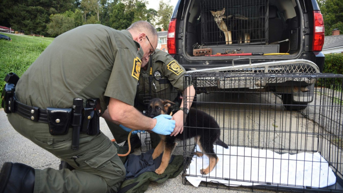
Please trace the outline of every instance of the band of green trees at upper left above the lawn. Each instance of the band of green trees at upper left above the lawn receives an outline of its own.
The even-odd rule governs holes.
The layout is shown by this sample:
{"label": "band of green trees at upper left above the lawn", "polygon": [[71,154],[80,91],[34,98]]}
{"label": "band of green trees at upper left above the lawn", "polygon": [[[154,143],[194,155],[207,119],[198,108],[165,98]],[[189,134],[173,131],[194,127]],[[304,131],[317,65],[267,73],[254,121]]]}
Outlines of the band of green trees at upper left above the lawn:
{"label": "band of green trees at upper left above the lawn", "polygon": [[172,14],[170,0],[159,0],[158,10],[147,9],[146,3],[145,0],[0,0],[0,25],[49,37],[89,23],[121,30],[137,20],[147,20],[158,29],[167,29]]}

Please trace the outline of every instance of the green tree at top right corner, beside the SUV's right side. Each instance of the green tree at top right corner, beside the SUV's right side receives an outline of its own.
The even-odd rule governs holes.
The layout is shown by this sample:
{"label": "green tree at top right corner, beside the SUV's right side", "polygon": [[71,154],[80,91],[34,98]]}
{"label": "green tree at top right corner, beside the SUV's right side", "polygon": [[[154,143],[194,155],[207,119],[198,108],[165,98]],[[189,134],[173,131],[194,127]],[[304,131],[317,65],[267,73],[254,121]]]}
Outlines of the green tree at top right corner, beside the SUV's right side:
{"label": "green tree at top right corner, beside the SUV's right side", "polygon": [[343,21],[342,0],[317,0],[324,19],[325,35],[331,35],[334,28],[341,28],[339,22]]}

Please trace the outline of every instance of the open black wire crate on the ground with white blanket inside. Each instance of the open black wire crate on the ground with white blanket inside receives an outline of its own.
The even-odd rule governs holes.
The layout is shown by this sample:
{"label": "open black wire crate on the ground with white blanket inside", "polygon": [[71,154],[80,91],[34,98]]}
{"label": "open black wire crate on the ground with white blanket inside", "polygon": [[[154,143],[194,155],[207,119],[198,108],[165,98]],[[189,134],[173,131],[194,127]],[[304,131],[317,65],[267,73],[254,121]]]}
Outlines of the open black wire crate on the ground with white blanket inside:
{"label": "open black wire crate on the ground with white blanket inside", "polygon": [[[209,79],[213,85],[223,81],[226,87],[198,94],[194,108],[216,120],[219,128],[208,129],[220,130],[219,138],[228,148],[214,143],[217,163],[208,174],[201,174],[210,160],[201,153],[197,156],[198,138],[184,139],[183,184],[343,192],[342,74],[194,72],[184,76],[184,82],[192,81],[195,88]],[[266,89],[235,83],[265,79],[281,81],[282,86],[270,84]],[[187,101],[187,93],[183,98]],[[196,114],[187,117],[201,119]],[[185,125],[183,133],[189,129]]]}

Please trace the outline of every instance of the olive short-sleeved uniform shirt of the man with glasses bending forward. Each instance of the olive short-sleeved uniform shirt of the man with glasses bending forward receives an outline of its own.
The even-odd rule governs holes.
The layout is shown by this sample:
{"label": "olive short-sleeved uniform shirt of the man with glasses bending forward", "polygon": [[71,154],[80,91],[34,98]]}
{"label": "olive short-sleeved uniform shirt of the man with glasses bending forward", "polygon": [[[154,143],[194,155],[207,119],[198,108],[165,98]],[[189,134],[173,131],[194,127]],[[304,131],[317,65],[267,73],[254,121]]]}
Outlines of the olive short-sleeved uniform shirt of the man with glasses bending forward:
{"label": "olive short-sleeved uniform shirt of the man with glasses bending forward", "polygon": [[[20,77],[19,101],[40,108],[72,106],[75,97],[109,97],[133,105],[143,55],[127,30],[88,24],[57,36]],[[139,51],[138,51],[139,49]]]}

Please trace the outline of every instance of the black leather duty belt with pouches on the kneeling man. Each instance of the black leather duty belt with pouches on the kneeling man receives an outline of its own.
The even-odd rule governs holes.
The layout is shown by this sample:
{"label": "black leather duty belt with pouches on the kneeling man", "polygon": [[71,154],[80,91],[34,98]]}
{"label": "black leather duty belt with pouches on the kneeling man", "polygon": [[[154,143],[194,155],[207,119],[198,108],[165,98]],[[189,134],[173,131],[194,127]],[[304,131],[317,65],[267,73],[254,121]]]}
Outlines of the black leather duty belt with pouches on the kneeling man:
{"label": "black leather duty belt with pouches on the kneeling man", "polygon": [[74,98],[70,108],[47,107],[42,109],[19,102],[15,97],[15,85],[19,77],[11,72],[4,79],[7,83],[1,93],[1,106],[5,113],[17,113],[36,122],[48,124],[51,135],[67,134],[72,127],[71,149],[78,149],[79,133],[95,135],[100,132],[101,116],[99,98],[88,98],[83,107],[82,98]]}

